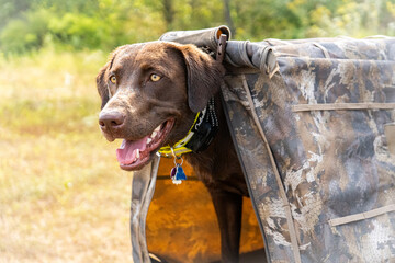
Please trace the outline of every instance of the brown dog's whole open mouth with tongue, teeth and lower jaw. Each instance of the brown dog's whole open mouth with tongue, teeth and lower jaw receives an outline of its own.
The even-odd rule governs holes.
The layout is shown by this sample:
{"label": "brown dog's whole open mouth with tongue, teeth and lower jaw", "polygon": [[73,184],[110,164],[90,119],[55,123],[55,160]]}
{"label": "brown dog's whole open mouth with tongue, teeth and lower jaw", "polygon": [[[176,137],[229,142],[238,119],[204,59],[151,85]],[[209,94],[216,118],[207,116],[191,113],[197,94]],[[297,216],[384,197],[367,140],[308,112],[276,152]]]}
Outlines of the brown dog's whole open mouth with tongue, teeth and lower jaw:
{"label": "brown dog's whole open mouth with tongue, teeth and lower jaw", "polygon": [[116,150],[120,167],[128,171],[143,168],[150,160],[151,153],[161,147],[173,124],[174,119],[171,118],[159,125],[150,135],[143,139],[124,139],[121,147]]}

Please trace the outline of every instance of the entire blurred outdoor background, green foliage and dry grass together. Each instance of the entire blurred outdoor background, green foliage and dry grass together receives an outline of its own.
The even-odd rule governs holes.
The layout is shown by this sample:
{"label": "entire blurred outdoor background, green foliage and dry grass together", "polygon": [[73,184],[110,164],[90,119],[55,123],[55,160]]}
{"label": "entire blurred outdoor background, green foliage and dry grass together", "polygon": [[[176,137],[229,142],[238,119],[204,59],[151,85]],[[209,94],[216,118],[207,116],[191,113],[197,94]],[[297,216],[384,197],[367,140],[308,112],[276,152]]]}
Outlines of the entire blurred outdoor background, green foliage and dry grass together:
{"label": "entire blurred outdoor background, green foliage and dry grass together", "polygon": [[0,262],[132,262],[131,173],[98,128],[119,45],[226,24],[234,39],[395,35],[395,0],[0,0]]}

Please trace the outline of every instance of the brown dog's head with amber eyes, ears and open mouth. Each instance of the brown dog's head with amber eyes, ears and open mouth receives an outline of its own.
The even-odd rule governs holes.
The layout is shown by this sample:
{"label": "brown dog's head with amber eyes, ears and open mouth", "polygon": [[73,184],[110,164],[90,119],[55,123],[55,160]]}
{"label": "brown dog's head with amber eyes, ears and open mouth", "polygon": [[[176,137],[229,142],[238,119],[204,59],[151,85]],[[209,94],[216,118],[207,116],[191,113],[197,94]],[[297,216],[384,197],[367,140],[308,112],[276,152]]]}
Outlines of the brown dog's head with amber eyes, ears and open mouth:
{"label": "brown dog's head with amber eyes, ears and open mouth", "polygon": [[97,78],[100,128],[124,170],[138,170],[183,138],[219,90],[224,69],[193,45],[151,42],[121,46]]}

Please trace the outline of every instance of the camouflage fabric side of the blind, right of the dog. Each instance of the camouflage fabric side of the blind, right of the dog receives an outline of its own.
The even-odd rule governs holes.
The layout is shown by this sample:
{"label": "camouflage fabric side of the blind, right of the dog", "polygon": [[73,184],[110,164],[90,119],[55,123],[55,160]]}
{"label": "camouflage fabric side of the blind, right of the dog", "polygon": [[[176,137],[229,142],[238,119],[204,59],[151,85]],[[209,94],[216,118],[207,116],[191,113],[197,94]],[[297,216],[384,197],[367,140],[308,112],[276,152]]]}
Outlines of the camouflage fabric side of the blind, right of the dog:
{"label": "camouflage fabric side of the blind, right of the dog", "polygon": [[395,262],[395,38],[228,42],[225,66],[269,262]]}

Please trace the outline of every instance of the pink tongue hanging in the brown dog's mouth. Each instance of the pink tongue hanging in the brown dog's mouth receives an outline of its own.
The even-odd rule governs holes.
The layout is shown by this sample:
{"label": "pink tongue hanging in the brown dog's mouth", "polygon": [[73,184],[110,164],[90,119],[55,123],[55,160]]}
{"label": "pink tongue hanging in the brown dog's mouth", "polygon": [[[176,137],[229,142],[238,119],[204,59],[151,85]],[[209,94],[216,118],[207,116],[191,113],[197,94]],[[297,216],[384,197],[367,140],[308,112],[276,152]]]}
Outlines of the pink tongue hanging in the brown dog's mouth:
{"label": "pink tongue hanging in the brown dog's mouth", "polygon": [[135,161],[137,149],[144,151],[147,146],[147,137],[140,140],[123,140],[119,149],[116,149],[116,158],[121,164],[131,164]]}

